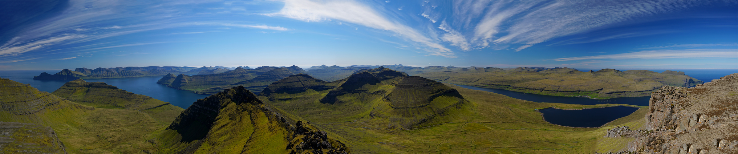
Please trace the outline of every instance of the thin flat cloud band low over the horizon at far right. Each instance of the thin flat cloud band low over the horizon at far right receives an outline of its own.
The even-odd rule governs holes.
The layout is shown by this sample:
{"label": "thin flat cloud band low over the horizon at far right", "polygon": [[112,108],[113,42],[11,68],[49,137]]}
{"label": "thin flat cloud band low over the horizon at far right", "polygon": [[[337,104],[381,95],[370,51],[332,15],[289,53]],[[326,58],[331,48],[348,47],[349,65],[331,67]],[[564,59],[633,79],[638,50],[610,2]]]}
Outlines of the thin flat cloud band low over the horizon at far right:
{"label": "thin flat cloud band low over the horizon at far right", "polygon": [[668,59],[668,58],[738,58],[738,49],[678,49],[678,50],[651,50],[641,52],[629,52],[613,55],[596,55],[582,57],[562,57],[555,61],[568,60],[623,60],[623,59]]}

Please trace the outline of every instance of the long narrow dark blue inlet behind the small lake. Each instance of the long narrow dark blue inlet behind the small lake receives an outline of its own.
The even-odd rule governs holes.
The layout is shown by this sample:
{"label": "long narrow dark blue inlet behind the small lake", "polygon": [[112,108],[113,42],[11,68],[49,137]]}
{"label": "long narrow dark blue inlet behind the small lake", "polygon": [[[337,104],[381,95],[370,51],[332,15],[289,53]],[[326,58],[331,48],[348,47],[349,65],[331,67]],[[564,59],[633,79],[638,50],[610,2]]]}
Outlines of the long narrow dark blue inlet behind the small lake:
{"label": "long narrow dark blue inlet behind the small lake", "polygon": [[469,88],[479,91],[489,91],[497,94],[503,94],[508,97],[516,99],[523,99],[532,102],[557,102],[574,105],[598,105],[598,104],[627,104],[627,105],[638,105],[647,106],[648,101],[651,97],[618,97],[613,99],[589,99],[586,97],[559,97],[549,96],[542,94],[530,94],[517,91],[508,91],[496,88],[479,88],[469,85],[459,85],[462,88]]}

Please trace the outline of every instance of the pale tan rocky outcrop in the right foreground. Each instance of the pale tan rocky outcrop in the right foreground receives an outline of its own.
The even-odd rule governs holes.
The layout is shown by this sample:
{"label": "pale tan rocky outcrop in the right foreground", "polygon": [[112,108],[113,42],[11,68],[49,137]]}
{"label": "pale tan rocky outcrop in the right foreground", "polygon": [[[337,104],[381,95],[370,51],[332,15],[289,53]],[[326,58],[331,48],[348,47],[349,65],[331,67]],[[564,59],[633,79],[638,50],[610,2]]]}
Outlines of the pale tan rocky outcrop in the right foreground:
{"label": "pale tan rocky outcrop in the right foreground", "polygon": [[646,136],[638,153],[738,153],[738,74],[693,88],[664,86],[652,93]]}

